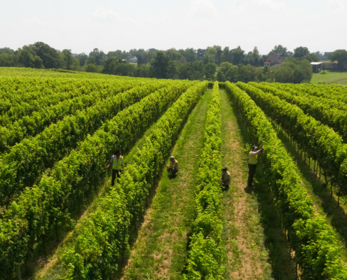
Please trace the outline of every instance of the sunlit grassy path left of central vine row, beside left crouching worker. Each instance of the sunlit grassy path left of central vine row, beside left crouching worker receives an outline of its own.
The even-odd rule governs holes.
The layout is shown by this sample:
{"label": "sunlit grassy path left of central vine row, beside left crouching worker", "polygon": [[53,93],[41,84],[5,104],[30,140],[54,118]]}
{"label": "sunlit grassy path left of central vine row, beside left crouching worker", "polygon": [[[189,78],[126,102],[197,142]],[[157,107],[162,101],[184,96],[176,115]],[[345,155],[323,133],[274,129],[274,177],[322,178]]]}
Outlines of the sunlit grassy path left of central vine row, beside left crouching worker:
{"label": "sunlit grassy path left of central vine row, beside left crouching worker", "polygon": [[[199,154],[211,90],[191,112],[172,151],[179,161],[175,179],[163,176],[144,216],[123,279],[182,279],[186,265],[188,233],[193,216]],[[115,275],[114,279],[119,279]]]}

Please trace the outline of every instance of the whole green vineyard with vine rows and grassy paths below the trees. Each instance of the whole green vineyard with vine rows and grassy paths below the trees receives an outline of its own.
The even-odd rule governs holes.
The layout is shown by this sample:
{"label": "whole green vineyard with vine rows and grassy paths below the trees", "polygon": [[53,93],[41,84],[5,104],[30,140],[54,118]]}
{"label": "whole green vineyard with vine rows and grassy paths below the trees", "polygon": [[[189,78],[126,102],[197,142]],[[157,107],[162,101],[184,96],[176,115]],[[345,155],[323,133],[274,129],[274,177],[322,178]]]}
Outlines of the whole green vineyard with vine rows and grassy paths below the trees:
{"label": "whole green vineyard with vine rows and grassy paths below the trees", "polygon": [[346,86],[0,68],[0,99],[0,279],[347,279]]}

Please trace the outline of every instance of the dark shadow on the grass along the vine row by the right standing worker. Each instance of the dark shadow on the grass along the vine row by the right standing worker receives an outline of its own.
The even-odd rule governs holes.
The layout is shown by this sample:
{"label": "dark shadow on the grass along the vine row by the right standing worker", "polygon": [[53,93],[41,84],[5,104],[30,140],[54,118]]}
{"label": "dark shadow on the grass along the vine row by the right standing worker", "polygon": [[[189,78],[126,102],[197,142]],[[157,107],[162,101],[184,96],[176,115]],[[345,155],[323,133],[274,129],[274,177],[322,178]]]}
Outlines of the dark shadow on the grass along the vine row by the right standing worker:
{"label": "dark shadow on the grass along the vine row by the right standing worker", "polygon": [[[240,127],[245,150],[250,149],[253,139],[247,132],[245,123],[238,114],[236,106],[230,102],[231,108],[236,116]],[[245,153],[245,158],[247,154]],[[246,163],[242,163],[246,164]],[[258,212],[260,214],[260,224],[264,228],[264,245],[268,249],[268,262],[271,264],[272,277],[278,280],[296,279],[296,269],[294,262],[290,258],[289,243],[285,239],[283,227],[281,225],[280,212],[275,206],[275,201],[271,193],[271,188],[266,182],[266,176],[259,165],[254,176],[254,187],[245,188],[245,193],[252,193],[258,202]]]}

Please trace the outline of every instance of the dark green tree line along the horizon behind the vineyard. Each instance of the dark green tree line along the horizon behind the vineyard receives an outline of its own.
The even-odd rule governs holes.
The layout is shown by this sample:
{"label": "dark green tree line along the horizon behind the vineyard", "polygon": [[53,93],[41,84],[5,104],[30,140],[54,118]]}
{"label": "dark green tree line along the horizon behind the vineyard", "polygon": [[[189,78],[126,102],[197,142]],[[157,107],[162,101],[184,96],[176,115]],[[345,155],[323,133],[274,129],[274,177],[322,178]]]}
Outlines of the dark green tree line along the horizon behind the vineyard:
{"label": "dark green tree line along the horizon behind the vineyard", "polygon": [[[280,66],[265,65],[268,55],[287,59]],[[43,42],[24,45],[18,50],[0,48],[0,66],[22,66],[37,69],[67,69],[106,73],[118,76],[144,78],[172,78],[189,80],[268,81],[280,83],[309,82],[312,77],[310,62],[319,62],[329,57],[337,61],[339,69],[347,63],[347,51],[309,52],[298,47],[294,52],[283,45],[275,45],[268,55],[260,55],[257,47],[245,52],[240,46],[222,49],[219,45],[205,49],[156,50],[150,48],[132,49],[129,52],[115,50],[103,52],[95,48],[88,55],[73,54],[71,50],[55,50]],[[137,57],[137,63],[129,63],[130,57]]]}

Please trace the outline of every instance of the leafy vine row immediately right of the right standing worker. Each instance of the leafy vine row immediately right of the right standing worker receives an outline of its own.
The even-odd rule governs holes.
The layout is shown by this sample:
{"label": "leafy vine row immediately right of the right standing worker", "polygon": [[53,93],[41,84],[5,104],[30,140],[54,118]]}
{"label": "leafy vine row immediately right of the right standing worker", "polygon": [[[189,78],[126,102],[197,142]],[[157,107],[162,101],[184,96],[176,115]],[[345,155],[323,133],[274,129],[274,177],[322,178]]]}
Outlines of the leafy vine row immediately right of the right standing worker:
{"label": "leafy vine row immediately right of the right standing worker", "polygon": [[347,269],[334,231],[325,218],[314,214],[313,201],[301,187],[299,171],[264,112],[236,85],[227,82],[226,92],[238,107],[253,140],[264,145],[260,161],[282,213],[301,279],[346,279]]}

